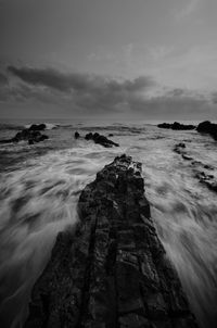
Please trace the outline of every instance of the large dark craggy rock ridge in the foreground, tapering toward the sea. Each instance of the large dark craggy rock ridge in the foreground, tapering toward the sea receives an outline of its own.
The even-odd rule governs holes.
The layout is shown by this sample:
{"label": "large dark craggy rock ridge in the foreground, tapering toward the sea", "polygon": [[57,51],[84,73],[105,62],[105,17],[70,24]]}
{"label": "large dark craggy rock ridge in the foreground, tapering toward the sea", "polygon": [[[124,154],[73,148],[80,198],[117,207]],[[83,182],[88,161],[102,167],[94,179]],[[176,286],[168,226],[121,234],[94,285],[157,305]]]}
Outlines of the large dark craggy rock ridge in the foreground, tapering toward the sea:
{"label": "large dark craggy rock ridge in the foreground, tapering toward the sea", "polygon": [[25,328],[197,327],[150,217],[141,164],[122,155],[81,192],[58,236]]}

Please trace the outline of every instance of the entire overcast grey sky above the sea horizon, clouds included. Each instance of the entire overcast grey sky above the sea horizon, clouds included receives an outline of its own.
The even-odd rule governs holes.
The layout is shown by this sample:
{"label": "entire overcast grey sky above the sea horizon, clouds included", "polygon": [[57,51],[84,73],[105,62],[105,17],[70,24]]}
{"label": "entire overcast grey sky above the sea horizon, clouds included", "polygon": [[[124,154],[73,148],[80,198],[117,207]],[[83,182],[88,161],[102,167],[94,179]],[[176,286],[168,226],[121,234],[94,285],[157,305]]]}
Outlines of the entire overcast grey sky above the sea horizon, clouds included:
{"label": "entire overcast grey sky above the sea horizon, clouds included", "polygon": [[0,0],[0,119],[217,119],[216,0]]}

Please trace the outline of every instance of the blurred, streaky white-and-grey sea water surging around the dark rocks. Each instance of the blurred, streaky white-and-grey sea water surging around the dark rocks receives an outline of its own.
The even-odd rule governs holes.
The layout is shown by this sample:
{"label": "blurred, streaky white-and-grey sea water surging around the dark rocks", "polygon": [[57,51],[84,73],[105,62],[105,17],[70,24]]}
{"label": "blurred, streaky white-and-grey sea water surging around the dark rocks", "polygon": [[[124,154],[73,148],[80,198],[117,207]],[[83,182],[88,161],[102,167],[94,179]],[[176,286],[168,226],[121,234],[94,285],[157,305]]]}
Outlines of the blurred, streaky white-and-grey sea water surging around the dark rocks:
{"label": "blurred, streaky white-and-grey sea water surging around the dark rocks", "polygon": [[[0,139],[25,124],[1,125]],[[52,122],[58,123],[58,122]],[[52,128],[55,127],[55,128]],[[74,139],[98,131],[119,148]],[[168,257],[176,267],[201,328],[217,323],[217,193],[200,184],[197,172],[217,179],[217,143],[194,130],[158,129],[151,124],[59,122],[44,142],[0,144],[0,323],[22,327],[30,290],[47,264],[59,231],[78,220],[81,189],[116,155],[140,161],[145,194]],[[174,152],[186,143],[192,161]],[[209,168],[204,168],[209,165]]]}

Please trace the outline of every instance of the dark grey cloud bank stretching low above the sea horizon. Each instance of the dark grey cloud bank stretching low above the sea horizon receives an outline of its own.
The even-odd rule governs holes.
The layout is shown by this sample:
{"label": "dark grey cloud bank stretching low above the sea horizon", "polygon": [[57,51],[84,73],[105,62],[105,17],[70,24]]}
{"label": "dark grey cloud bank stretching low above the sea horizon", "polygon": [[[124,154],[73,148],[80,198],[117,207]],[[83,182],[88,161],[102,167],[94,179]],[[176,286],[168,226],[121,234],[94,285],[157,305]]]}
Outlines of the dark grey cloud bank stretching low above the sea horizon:
{"label": "dark grey cloud bank stretching low above the sea horizon", "polygon": [[[184,89],[166,89],[150,76],[115,79],[12,65],[7,72],[8,76],[0,74],[1,103],[30,103],[33,108],[43,104],[44,110],[55,106],[60,117],[119,114],[138,119],[201,119],[216,112],[216,94],[208,98]],[[157,88],[161,92],[153,91]],[[52,116],[52,110],[49,115]]]}

